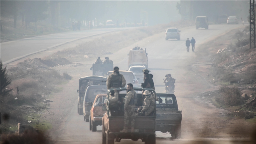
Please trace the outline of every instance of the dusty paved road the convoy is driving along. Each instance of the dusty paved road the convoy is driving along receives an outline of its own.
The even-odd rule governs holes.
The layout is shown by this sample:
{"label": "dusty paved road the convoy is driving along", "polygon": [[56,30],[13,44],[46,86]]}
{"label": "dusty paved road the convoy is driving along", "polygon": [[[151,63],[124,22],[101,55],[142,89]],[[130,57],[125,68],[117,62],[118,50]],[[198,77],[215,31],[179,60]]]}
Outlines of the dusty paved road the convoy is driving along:
{"label": "dusty paved road the convoy is driving along", "polygon": [[[190,65],[190,61],[196,57],[196,55],[192,50],[190,50],[189,53],[186,52],[185,40],[187,38],[191,39],[191,37],[194,37],[196,39],[195,52],[200,52],[197,49],[199,45],[238,27],[242,27],[242,25],[210,25],[209,30],[196,30],[195,27],[181,28],[180,41],[166,41],[164,33],[162,33],[156,35],[152,41],[146,41],[140,45],[141,48],[147,48],[149,58],[148,67],[154,75],[153,79],[156,86],[156,92],[164,93],[163,78],[165,74],[171,73],[176,79],[175,95],[177,96],[179,110],[183,111],[182,134],[184,139],[174,141],[161,140],[161,137],[170,138],[171,136],[169,134],[157,132],[156,143],[240,143],[239,140],[231,142],[228,139],[206,140],[207,142],[204,140],[197,140],[196,135],[193,133],[193,129],[190,128],[190,125],[192,124],[186,122],[196,121],[196,124],[200,126],[202,123],[201,119],[204,119],[208,112],[212,113],[217,110],[196,105],[193,103],[193,99],[190,98],[191,93],[209,89],[211,88],[211,85],[199,76],[195,76],[193,71],[188,73],[188,65]],[[129,49],[127,48],[121,49],[116,52],[115,55],[111,56],[111,60],[114,61],[114,65],[119,66],[120,70],[127,70],[128,50]],[[202,109],[204,111],[199,112]],[[89,131],[89,123],[83,121],[83,116],[79,116],[77,114],[76,105],[74,105],[59,133],[60,135],[57,138],[57,143],[101,143],[101,127],[97,127],[97,132]],[[142,142],[140,140],[137,142],[121,140],[121,143]]]}

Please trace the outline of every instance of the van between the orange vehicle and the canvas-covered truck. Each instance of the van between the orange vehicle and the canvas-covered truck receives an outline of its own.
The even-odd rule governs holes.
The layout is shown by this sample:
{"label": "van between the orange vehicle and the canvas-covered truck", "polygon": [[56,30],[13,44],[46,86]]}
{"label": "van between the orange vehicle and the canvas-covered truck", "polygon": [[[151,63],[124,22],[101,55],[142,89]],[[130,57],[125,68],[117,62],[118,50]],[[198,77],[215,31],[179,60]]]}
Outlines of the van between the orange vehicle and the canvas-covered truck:
{"label": "van between the orange vehicle and the canvas-covered truck", "polygon": [[87,87],[85,94],[84,94],[84,101],[83,101],[83,111],[84,111],[84,121],[89,122],[89,116],[91,114],[90,110],[92,105],[90,102],[94,102],[95,97],[100,94],[107,93],[107,86],[106,85],[91,85]]}

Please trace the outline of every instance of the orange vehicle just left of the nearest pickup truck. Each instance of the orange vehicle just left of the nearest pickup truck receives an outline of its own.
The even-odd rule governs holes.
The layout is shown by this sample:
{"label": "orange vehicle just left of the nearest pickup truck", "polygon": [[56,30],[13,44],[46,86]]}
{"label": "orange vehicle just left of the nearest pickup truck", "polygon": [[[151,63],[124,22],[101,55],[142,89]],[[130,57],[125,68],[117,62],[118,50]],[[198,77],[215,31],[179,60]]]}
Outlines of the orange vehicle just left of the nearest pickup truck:
{"label": "orange vehicle just left of the nearest pickup truck", "polygon": [[107,94],[97,95],[94,102],[89,102],[88,105],[91,105],[91,115],[89,117],[90,130],[93,132],[97,131],[97,126],[102,125],[102,117],[106,111],[102,110],[102,104],[106,98]]}

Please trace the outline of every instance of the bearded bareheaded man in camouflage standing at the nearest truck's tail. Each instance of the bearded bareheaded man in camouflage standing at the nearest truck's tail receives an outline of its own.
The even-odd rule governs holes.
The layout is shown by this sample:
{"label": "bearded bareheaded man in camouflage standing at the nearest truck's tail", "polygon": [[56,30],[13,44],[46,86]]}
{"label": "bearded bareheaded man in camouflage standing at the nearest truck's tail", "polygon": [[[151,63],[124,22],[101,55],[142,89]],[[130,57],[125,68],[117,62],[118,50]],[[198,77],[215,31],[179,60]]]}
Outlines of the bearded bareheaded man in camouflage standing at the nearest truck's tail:
{"label": "bearded bareheaded man in camouflage standing at the nearest truck's tail", "polygon": [[127,132],[129,122],[131,123],[131,132],[134,132],[135,124],[135,104],[137,103],[137,94],[133,90],[132,84],[127,84],[127,94],[124,102],[124,129],[120,132]]}

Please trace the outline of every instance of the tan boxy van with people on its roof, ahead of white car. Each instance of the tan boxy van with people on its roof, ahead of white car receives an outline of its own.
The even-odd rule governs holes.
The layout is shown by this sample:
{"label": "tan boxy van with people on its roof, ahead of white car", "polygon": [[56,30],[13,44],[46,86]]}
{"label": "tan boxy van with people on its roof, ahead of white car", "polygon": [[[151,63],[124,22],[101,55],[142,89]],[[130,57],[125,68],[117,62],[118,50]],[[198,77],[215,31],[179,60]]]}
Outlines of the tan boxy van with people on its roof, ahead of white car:
{"label": "tan boxy van with people on its roof, ahead of white car", "polygon": [[132,65],[144,65],[148,68],[148,53],[146,52],[146,49],[130,49],[128,54],[128,69]]}

